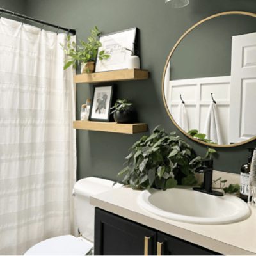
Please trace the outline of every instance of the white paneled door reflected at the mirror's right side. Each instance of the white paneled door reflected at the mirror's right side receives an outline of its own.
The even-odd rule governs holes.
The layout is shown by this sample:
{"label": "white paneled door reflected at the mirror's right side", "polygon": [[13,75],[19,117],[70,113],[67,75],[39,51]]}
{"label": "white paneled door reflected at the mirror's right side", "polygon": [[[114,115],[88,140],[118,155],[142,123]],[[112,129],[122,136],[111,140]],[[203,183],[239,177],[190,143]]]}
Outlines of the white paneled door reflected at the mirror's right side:
{"label": "white paneled door reflected at the mirror's right side", "polygon": [[256,33],[232,37],[230,143],[256,134]]}

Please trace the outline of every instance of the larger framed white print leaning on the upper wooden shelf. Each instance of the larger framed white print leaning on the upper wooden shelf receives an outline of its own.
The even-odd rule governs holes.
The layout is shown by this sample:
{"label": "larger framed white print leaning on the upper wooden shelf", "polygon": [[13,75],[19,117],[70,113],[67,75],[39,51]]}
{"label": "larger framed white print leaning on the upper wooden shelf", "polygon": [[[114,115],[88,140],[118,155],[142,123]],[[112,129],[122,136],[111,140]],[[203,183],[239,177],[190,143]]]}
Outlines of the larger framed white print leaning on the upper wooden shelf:
{"label": "larger framed white print leaning on the upper wooden shelf", "polygon": [[[102,47],[98,51],[95,72],[127,69],[127,60],[131,56],[131,51],[134,52],[136,31],[137,28],[131,28],[100,36]],[[110,55],[107,60],[99,60],[99,52],[102,50]]]}

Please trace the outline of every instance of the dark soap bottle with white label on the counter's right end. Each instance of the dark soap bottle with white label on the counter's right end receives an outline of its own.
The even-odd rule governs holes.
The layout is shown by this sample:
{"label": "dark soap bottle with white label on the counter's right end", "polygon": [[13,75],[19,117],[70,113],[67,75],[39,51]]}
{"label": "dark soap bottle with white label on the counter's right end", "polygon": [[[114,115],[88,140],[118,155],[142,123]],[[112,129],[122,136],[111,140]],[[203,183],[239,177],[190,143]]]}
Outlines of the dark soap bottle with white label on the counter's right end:
{"label": "dark soap bottle with white label on the counter's right end", "polygon": [[250,165],[252,162],[253,150],[254,148],[248,148],[251,153],[251,156],[248,157],[248,162],[241,166],[240,173],[240,198],[247,202],[249,195],[249,173],[250,173]]}

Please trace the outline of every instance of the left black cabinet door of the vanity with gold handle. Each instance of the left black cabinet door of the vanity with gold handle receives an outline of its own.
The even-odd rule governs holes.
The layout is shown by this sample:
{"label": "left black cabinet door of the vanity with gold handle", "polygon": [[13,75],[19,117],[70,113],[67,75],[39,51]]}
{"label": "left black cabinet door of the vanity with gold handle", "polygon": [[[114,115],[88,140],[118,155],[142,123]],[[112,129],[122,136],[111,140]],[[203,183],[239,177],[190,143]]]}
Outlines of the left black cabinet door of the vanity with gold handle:
{"label": "left black cabinet door of the vanity with gold handle", "polygon": [[95,208],[95,255],[154,255],[156,231]]}

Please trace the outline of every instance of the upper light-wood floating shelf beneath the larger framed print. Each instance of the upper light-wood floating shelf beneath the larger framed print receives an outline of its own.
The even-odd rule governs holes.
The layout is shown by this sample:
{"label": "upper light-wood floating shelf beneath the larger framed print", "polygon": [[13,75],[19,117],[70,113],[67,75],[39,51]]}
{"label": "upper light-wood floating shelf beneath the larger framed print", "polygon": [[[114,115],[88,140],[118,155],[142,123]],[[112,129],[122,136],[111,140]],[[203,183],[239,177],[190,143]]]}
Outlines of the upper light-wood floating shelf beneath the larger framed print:
{"label": "upper light-wood floating shelf beneath the larger framed print", "polygon": [[74,76],[75,83],[103,83],[148,79],[148,70],[122,69]]}

